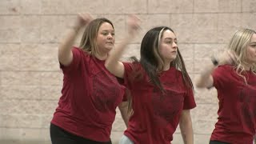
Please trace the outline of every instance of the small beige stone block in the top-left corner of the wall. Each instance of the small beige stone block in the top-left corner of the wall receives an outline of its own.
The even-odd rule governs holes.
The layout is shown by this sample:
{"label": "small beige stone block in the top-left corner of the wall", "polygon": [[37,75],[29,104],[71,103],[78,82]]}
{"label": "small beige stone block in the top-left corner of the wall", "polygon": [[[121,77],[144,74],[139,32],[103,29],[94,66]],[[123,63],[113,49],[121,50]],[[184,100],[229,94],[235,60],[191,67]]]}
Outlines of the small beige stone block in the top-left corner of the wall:
{"label": "small beige stone block in the top-left corner of the wall", "polygon": [[20,0],[0,1],[0,14],[19,14],[20,9]]}

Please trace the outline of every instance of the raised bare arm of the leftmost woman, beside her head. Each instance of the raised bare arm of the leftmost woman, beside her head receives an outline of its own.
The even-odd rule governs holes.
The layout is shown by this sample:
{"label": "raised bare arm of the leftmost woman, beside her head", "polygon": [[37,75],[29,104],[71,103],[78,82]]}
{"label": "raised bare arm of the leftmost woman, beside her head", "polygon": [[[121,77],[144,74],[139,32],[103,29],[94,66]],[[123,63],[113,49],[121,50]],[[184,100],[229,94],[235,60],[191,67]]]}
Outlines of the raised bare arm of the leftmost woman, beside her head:
{"label": "raised bare arm of the leftmost woman, beside her head", "polygon": [[75,38],[78,35],[78,31],[81,30],[82,26],[86,26],[92,18],[90,14],[78,14],[74,26],[69,30],[66,37],[60,42],[58,46],[58,61],[63,66],[68,66],[73,60],[72,46],[74,45]]}

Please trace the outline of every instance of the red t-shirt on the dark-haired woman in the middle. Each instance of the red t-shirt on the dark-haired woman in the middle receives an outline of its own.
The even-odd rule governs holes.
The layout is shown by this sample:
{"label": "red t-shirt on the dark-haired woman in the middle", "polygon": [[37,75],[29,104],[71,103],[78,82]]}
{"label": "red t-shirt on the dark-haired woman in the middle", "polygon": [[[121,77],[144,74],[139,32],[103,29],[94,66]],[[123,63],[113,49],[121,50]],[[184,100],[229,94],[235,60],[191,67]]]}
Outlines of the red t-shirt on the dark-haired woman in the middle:
{"label": "red t-shirt on the dark-haired woman in the middle", "polygon": [[[133,99],[134,114],[130,117],[125,135],[135,144],[170,144],[182,110],[194,108],[192,89],[186,89],[182,73],[171,67],[159,78],[166,90],[162,94],[150,83],[140,64],[124,62],[124,83]],[[133,78],[142,71],[142,79]]]}

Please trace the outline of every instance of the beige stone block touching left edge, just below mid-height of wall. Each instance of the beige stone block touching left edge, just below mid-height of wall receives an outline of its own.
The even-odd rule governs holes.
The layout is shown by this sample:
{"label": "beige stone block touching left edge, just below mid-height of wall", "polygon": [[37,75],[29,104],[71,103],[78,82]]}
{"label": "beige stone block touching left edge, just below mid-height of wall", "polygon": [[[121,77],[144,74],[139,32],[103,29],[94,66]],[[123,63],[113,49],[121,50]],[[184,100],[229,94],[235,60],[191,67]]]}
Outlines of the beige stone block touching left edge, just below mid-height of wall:
{"label": "beige stone block touching left edge, just below mid-height of wall", "polygon": [[2,71],[2,86],[38,86],[40,73],[34,71]]}

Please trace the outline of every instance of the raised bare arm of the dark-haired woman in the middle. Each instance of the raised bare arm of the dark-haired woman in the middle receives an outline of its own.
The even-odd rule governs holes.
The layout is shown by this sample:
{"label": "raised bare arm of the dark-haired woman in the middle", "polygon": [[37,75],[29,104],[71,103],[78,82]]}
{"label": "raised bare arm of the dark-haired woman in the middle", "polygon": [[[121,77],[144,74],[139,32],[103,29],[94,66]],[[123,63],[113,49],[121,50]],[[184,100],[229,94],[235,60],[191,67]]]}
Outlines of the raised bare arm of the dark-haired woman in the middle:
{"label": "raised bare arm of the dark-haired woman in the middle", "polygon": [[110,73],[114,74],[118,78],[123,78],[124,75],[124,66],[122,62],[118,60],[121,58],[123,51],[126,46],[129,44],[134,35],[137,33],[139,28],[138,26],[138,18],[135,16],[130,16],[128,19],[128,32],[126,37],[114,48],[111,50],[108,58],[106,58],[105,66],[106,69],[110,71]]}

